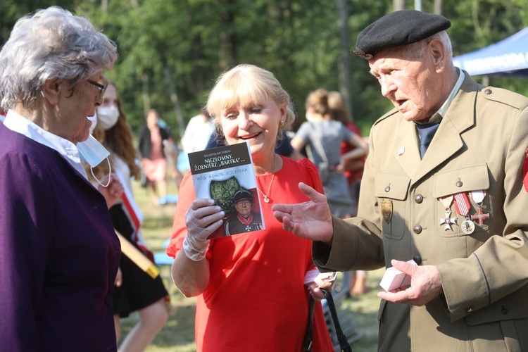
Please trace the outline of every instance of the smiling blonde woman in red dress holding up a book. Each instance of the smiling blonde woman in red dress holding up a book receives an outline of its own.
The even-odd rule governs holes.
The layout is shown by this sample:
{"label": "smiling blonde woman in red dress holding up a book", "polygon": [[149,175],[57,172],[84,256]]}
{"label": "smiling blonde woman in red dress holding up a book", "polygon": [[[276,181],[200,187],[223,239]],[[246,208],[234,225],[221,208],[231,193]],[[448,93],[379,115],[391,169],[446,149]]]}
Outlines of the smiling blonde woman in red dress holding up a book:
{"label": "smiling blonde woman in red dress holding up a book", "polygon": [[[196,350],[301,351],[310,294],[320,300],[322,292],[304,285],[311,241],[282,230],[271,207],[308,201],[298,182],[322,184],[308,159],[275,153],[277,135],[294,122],[289,95],[269,71],[238,65],[220,75],[207,108],[227,144],[249,142],[265,230],[207,239],[225,214],[212,199],[196,199],[184,177],[167,253],[182,294],[198,296]],[[313,351],[334,351],[320,303],[314,325]]]}

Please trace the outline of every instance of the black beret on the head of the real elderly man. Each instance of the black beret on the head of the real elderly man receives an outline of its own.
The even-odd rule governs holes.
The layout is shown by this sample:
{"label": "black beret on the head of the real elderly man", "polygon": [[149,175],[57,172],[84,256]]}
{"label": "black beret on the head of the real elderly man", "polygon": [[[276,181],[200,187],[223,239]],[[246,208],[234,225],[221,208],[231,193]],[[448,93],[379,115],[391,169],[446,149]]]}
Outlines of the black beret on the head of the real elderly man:
{"label": "black beret on the head of the real elderly man", "polygon": [[378,51],[420,42],[449,27],[451,22],[441,15],[417,10],[394,11],[361,31],[356,50],[352,52],[370,60]]}

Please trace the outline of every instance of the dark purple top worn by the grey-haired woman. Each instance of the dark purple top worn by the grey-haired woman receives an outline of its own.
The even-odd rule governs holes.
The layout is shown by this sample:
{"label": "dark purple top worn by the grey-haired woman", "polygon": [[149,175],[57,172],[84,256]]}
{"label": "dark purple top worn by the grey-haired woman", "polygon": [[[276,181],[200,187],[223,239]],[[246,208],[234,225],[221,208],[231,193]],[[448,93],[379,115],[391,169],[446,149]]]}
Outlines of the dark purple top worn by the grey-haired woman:
{"label": "dark purple top worn by the grey-haired woman", "polygon": [[0,141],[0,348],[116,351],[103,196],[54,149],[1,124]]}

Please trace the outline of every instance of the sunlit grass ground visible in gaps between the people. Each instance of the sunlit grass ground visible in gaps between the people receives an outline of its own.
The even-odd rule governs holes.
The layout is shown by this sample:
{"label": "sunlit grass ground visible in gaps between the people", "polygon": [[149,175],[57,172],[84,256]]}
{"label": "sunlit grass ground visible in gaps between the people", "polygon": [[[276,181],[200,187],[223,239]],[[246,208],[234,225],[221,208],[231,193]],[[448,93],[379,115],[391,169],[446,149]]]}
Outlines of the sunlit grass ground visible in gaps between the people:
{"label": "sunlit grass ground visible in gaps between the people", "polygon": [[[146,244],[156,253],[163,251],[162,244],[170,237],[172,219],[175,206],[157,206],[151,202],[151,196],[146,189],[139,187],[139,182],[134,182],[134,196],[139,207],[144,213],[142,225],[143,236]],[[173,184],[169,184],[169,194],[175,194],[176,189]],[[170,268],[161,268],[161,275],[164,278],[171,297],[171,309],[169,321],[163,330],[156,336],[148,352],[193,352],[196,351],[194,344],[194,312],[196,298],[185,298],[180,294],[170,279]],[[353,313],[353,322],[357,324],[356,330],[361,334],[361,338],[354,341],[352,348],[354,351],[375,352],[377,351],[377,310],[379,298],[376,293],[379,291],[379,281],[383,275],[383,270],[369,272],[367,276],[367,294],[359,297],[348,298],[342,304],[349,307]],[[339,279],[339,276],[338,276]],[[130,317],[122,319],[122,337],[134,327],[139,320],[137,313],[132,313]]]}

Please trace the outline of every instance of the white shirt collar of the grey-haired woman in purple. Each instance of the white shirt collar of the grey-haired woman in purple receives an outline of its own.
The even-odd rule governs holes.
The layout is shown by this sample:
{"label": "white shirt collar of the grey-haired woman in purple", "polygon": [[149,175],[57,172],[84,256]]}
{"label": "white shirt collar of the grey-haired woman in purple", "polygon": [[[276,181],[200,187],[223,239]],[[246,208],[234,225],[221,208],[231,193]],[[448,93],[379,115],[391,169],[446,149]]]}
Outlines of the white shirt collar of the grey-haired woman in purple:
{"label": "white shirt collar of the grey-haired woman in purple", "polygon": [[9,130],[23,134],[25,137],[34,140],[34,142],[44,144],[44,146],[58,151],[75,170],[80,172],[84,178],[88,179],[86,171],[84,171],[84,167],[81,164],[77,146],[68,141],[68,139],[58,137],[56,134],[44,130],[42,127],[35,125],[30,120],[27,120],[27,118],[12,110],[7,112],[4,125]]}

